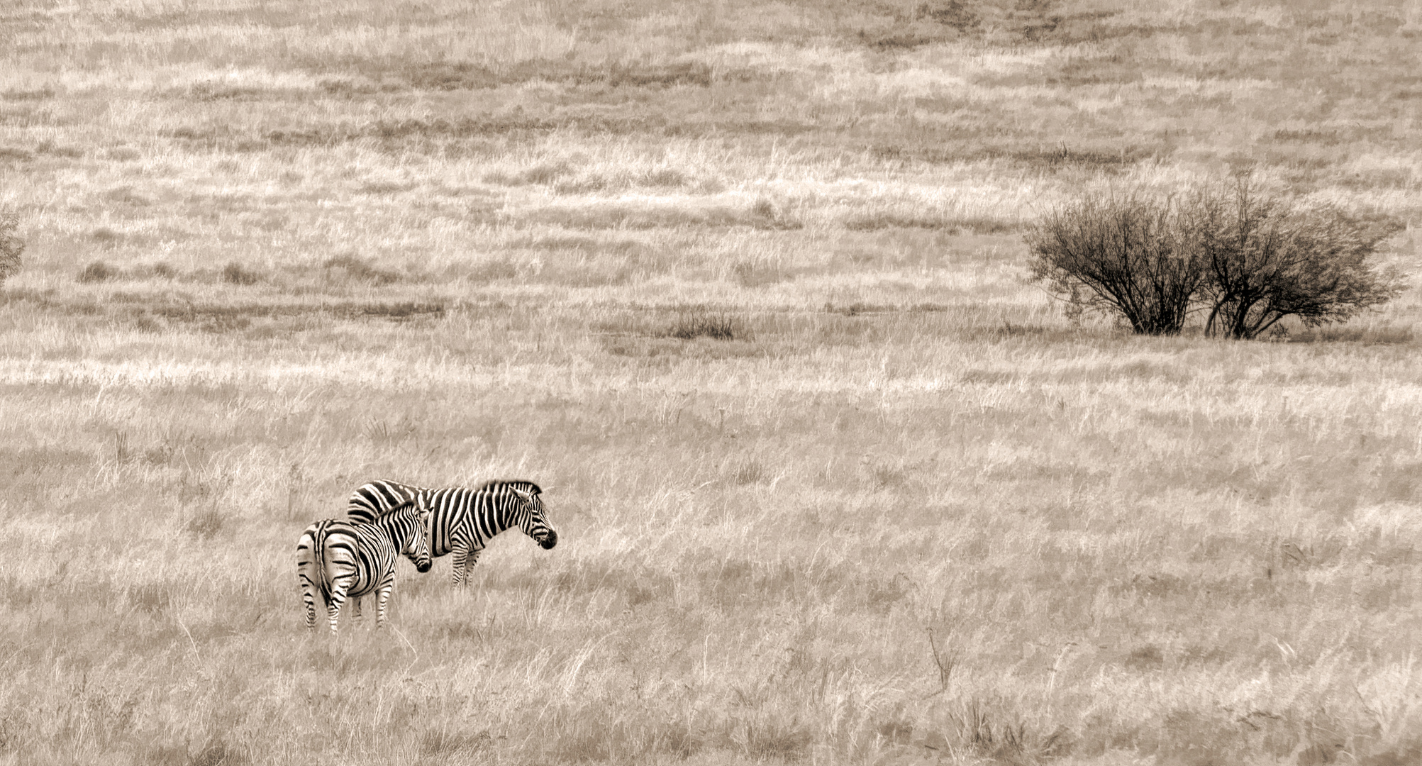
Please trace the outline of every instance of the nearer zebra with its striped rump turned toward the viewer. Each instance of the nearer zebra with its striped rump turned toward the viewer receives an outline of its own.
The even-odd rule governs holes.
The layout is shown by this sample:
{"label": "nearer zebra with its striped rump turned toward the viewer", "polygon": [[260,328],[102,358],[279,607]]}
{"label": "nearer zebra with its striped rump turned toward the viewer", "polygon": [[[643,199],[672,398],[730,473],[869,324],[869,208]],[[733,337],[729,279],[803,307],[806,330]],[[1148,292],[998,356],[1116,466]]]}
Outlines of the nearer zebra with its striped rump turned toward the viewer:
{"label": "nearer zebra with its striped rump turned toward the viewer", "polygon": [[375,594],[375,627],[385,624],[385,603],[395,587],[395,559],[408,557],[419,571],[429,571],[427,513],[407,500],[364,522],[324,519],[306,527],[296,544],[296,577],[306,601],[306,628],[316,630],[316,598],[331,615],[331,635],[341,604],[353,598],[351,620],[360,618],[360,600]]}

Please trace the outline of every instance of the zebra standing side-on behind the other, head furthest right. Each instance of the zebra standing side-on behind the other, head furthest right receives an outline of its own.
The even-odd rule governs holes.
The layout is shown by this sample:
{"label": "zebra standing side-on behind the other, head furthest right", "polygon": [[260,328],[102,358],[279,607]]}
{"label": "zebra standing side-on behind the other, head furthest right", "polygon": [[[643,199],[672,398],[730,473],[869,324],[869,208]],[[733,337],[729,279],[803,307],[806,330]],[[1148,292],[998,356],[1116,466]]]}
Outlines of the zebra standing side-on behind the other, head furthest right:
{"label": "zebra standing side-on behind the other, head furthest right", "polygon": [[489,537],[519,527],[543,546],[557,544],[557,532],[547,523],[543,500],[533,482],[485,482],[476,489],[451,486],[428,489],[398,482],[371,482],[351,495],[346,514],[356,522],[374,517],[400,503],[414,502],[429,512],[429,554],[454,553],[454,584],[464,583],[479,560]]}

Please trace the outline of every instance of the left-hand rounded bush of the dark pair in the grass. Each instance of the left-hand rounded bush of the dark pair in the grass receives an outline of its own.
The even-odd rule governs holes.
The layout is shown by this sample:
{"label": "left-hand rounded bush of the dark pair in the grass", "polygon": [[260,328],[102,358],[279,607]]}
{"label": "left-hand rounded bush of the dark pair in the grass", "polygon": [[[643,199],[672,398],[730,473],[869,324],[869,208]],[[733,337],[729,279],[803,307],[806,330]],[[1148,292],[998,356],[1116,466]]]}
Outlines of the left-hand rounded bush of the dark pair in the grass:
{"label": "left-hand rounded bush of the dark pair in the grass", "polygon": [[1027,233],[1032,276],[1078,310],[1119,313],[1140,334],[1177,334],[1206,274],[1180,223],[1170,199],[1086,193]]}

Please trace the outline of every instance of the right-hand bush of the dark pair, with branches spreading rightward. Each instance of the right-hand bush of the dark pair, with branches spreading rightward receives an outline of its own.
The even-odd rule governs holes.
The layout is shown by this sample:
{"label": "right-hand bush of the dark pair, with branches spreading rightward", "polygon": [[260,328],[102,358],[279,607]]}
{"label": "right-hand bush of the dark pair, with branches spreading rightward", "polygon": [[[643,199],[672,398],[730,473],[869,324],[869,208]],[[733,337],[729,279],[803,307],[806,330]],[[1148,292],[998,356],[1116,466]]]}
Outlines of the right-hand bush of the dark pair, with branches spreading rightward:
{"label": "right-hand bush of the dark pair, with branches spreading rightward", "polygon": [[1189,209],[1207,269],[1210,334],[1254,338],[1288,315],[1308,325],[1341,321],[1401,291],[1396,276],[1371,263],[1396,222],[1368,223],[1331,206],[1293,209],[1249,178],[1196,195]]}

